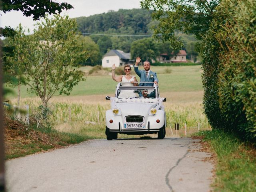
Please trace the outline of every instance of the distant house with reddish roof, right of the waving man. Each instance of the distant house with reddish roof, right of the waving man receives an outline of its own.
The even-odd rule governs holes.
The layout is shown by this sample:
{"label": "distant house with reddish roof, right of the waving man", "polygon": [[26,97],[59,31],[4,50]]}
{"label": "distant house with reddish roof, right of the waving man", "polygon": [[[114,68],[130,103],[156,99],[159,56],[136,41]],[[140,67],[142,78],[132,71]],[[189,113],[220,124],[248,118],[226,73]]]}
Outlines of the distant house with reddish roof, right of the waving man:
{"label": "distant house with reddish roof, right of the waving man", "polygon": [[169,57],[166,53],[160,54],[160,56],[157,58],[157,61],[161,63],[186,63],[186,56],[186,51],[180,50],[178,54],[172,57]]}

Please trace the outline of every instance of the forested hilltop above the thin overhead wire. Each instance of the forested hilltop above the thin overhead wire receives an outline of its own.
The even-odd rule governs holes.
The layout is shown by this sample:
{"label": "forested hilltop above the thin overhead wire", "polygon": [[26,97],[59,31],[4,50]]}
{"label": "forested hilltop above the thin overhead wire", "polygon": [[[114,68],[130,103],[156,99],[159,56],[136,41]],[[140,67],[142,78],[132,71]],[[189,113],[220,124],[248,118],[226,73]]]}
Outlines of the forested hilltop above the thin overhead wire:
{"label": "forested hilltop above the thin overhead wire", "polygon": [[120,9],[117,12],[79,17],[76,21],[79,30],[84,33],[108,32],[111,34],[148,34],[152,33],[152,11],[144,9]]}

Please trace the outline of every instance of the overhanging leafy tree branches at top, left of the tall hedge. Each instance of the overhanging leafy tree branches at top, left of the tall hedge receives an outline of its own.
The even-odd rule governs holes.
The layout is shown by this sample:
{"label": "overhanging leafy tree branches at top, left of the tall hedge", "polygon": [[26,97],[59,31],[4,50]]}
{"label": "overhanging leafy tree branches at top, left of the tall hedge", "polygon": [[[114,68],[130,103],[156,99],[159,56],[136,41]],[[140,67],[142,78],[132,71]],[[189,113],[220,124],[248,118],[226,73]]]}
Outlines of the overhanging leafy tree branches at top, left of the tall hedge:
{"label": "overhanging leafy tree branches at top, left of the tall hedge", "polygon": [[194,34],[198,40],[210,27],[220,0],[142,0],[142,8],[153,9],[152,18],[159,21],[154,26],[155,34],[171,43],[172,48],[182,48],[182,41],[175,36],[175,30]]}

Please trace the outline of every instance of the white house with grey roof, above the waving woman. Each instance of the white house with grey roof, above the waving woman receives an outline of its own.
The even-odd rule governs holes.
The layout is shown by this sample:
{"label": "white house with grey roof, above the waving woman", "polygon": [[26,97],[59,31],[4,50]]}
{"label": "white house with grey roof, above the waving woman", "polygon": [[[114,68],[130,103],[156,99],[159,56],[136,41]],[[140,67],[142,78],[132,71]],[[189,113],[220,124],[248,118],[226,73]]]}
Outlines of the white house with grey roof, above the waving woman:
{"label": "white house with grey roof, above the waving woman", "polygon": [[112,67],[113,64],[115,64],[116,67],[124,64],[130,64],[130,58],[130,53],[112,49],[103,56],[102,67]]}

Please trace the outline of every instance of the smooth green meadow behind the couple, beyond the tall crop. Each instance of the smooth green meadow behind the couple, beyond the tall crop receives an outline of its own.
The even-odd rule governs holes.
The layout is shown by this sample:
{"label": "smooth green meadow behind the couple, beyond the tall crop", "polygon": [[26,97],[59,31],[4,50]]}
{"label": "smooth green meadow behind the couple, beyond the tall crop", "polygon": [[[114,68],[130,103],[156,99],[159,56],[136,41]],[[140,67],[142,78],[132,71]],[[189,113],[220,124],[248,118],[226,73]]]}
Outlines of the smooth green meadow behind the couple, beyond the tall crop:
{"label": "smooth green meadow behind the couple, beyond the tall crop", "polygon": [[[142,67],[140,66],[142,69]],[[91,67],[82,67],[87,72]],[[200,78],[201,66],[152,66],[151,70],[157,73],[160,92],[195,92],[202,91],[202,80]],[[170,72],[170,73],[167,73]],[[133,71],[133,74],[134,71]],[[136,75],[139,80],[138,76]],[[114,94],[116,82],[111,75],[86,76],[86,81],[80,82],[74,87],[70,96],[84,96],[97,94]],[[32,97],[34,94],[27,93],[27,87],[22,86],[21,97]],[[14,94],[8,94],[8,98],[17,95],[17,88],[13,89]],[[56,94],[57,95],[57,94]]]}

